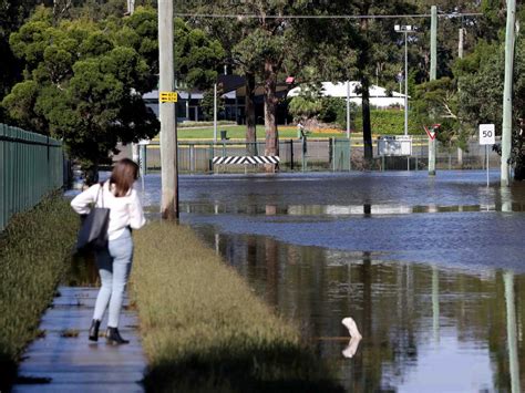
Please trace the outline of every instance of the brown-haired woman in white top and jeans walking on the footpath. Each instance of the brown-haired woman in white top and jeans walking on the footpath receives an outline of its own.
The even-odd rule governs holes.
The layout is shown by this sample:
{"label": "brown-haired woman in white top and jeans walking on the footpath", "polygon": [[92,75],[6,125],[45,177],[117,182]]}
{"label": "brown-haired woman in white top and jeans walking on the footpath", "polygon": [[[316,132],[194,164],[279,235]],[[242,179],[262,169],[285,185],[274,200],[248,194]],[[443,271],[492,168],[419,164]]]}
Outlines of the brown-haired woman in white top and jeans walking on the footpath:
{"label": "brown-haired woman in white top and jeans walking on the footpath", "polygon": [[[102,186],[95,184],[71,201],[71,206],[80,215],[89,214],[92,203],[97,207],[110,208],[109,245],[106,249],[97,250],[95,254],[102,286],[90,328],[91,341],[99,340],[101,320],[109,304],[107,342],[111,344],[130,342],[119,333],[119,317],[133,259],[130,228],[138,229],[145,224],[138,195],[133,188],[137,175],[138,165],[128,158],[121,159],[107,182]],[[97,198],[99,192],[102,192],[102,195]],[[104,206],[100,205],[102,200]]]}

